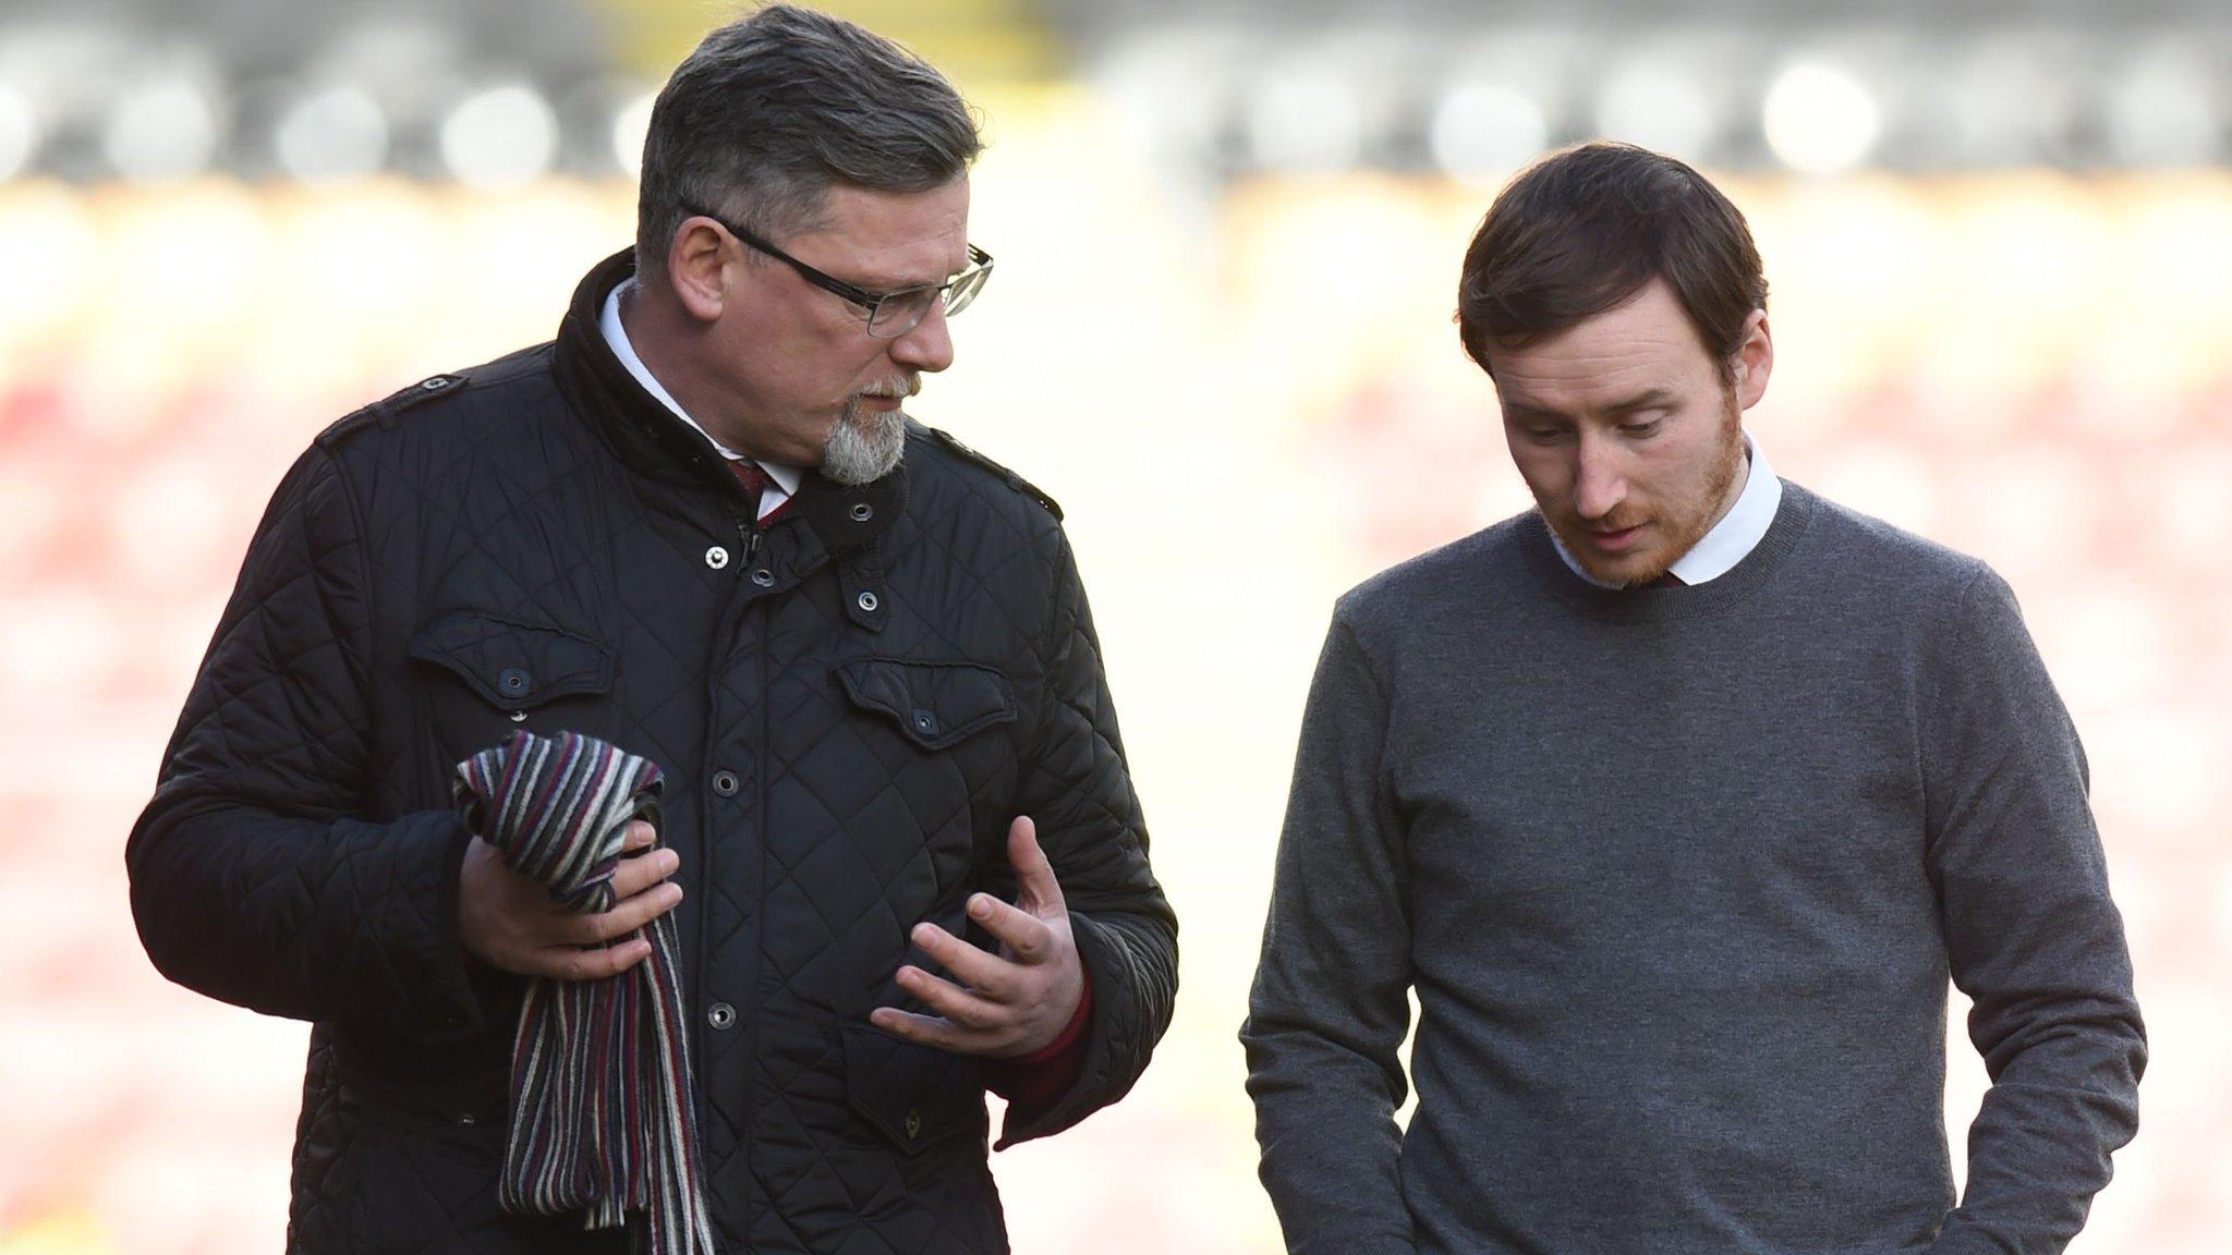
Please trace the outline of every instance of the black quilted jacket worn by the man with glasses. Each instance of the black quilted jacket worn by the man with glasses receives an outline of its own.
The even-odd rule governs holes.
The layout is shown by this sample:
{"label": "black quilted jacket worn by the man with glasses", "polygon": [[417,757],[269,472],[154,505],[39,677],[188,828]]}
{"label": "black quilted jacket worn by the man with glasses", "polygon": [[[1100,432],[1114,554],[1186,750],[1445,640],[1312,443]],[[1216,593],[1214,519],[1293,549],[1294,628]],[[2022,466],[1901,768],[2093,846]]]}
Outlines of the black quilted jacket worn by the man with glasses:
{"label": "black quilted jacket worn by the man with glasses", "polygon": [[616,1251],[496,1206],[520,987],[462,958],[458,759],[574,728],[667,773],[723,1251],[1004,1251],[982,1065],[868,1027],[917,920],[1013,893],[1031,815],[1089,1054],[1004,1143],[1132,1088],[1170,1023],[1147,869],[1058,514],[944,435],[806,476],[754,545],[719,453],[596,328],[359,411],[279,485],[132,833],[165,976],[312,1021],[290,1251]]}

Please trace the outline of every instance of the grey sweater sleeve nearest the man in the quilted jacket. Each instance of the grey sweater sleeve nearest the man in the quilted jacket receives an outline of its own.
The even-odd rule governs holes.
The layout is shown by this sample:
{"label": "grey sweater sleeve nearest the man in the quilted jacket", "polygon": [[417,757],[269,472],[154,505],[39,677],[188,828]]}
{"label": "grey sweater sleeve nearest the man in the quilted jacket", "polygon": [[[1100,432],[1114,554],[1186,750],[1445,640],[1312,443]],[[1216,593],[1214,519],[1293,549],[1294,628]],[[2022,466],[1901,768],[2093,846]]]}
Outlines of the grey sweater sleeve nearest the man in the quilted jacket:
{"label": "grey sweater sleeve nearest the man in the quilted jacket", "polygon": [[1408,1255],[1402,1132],[1411,916],[1388,799],[1386,686],[1337,614],[1301,717],[1295,784],[1248,996],[1259,1172],[1297,1255]]}

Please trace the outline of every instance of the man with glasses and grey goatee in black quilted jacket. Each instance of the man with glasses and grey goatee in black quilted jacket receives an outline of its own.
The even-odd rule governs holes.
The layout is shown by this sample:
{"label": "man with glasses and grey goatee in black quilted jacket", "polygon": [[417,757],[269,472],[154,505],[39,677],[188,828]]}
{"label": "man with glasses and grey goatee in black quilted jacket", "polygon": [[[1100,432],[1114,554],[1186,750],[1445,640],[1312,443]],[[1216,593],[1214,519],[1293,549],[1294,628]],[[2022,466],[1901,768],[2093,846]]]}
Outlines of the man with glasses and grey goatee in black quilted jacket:
{"label": "man with glasses and grey goatee in black quilted jacket", "polygon": [[[315,1025],[292,1251],[616,1248],[500,1206],[542,1137],[507,1076],[529,980],[627,978],[658,929],[699,1143],[656,1188],[712,1230],[652,1248],[1000,1251],[987,1085],[1013,1143],[1147,1065],[1176,925],[1060,514],[902,413],[991,272],[975,154],[891,42],[741,18],[661,94],[636,246],[556,342],[279,487],[129,866],[170,978]],[[451,804],[516,730],[663,770],[609,909]]]}

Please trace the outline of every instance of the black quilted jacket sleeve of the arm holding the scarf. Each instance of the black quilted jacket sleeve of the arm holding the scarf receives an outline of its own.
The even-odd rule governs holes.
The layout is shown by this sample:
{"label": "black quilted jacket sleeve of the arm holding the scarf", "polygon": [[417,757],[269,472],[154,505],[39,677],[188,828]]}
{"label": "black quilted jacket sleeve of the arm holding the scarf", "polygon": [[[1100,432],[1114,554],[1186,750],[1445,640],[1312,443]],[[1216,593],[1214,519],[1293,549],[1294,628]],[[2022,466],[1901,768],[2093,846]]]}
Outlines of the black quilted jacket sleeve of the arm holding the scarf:
{"label": "black quilted jacket sleeve of the arm holding the scarf", "polygon": [[471,1029],[462,822],[362,817],[368,596],[355,502],[312,447],[257,527],[132,828],[132,913],[156,969],[212,998],[404,1036]]}

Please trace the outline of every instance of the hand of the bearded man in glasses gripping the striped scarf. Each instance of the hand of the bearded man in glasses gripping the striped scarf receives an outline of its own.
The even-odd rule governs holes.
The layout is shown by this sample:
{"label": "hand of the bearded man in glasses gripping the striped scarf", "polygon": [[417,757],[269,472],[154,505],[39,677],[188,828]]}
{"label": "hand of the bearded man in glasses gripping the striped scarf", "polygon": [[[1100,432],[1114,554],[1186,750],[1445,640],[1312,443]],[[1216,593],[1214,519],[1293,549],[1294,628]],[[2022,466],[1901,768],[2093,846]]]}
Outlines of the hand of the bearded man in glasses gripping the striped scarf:
{"label": "hand of the bearded man in glasses gripping the striped scarf", "polygon": [[[496,846],[473,837],[458,873],[458,940],[464,949],[504,971],[596,980],[618,976],[652,956],[647,938],[629,938],[683,900],[683,887],[667,878],[681,866],[674,851],[652,846],[652,826],[627,824],[612,871],[612,909],[576,916],[551,900],[549,889],[504,866]],[[605,945],[627,938],[620,945]]]}

